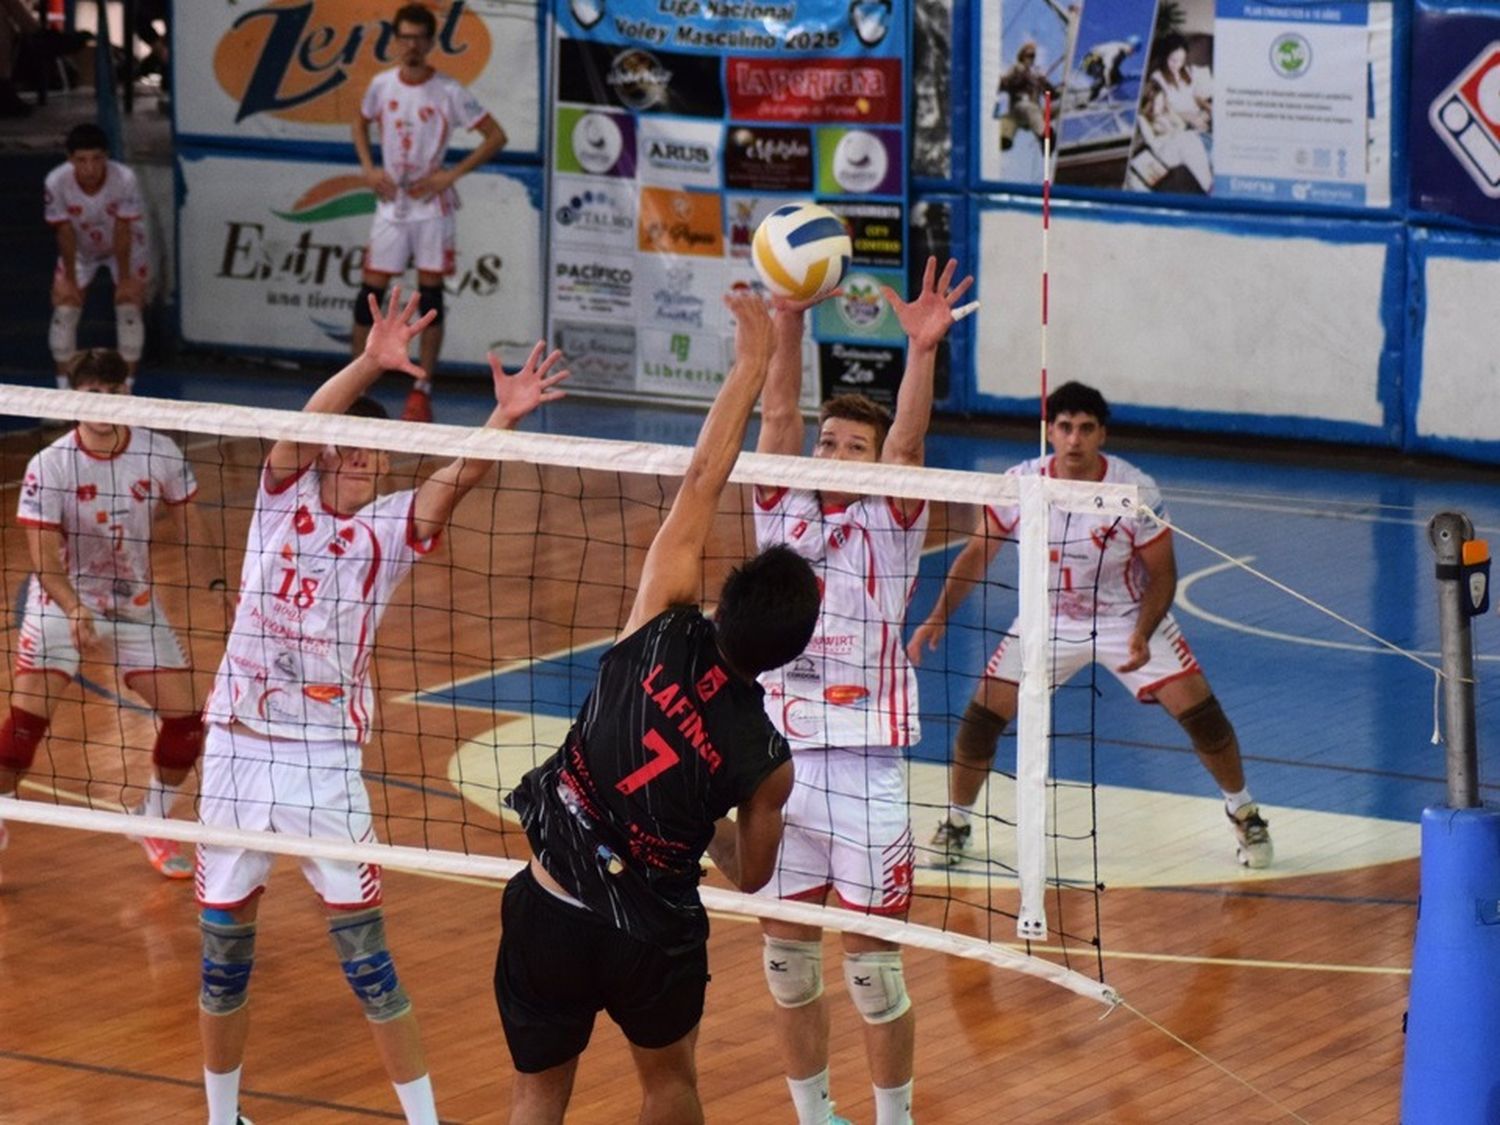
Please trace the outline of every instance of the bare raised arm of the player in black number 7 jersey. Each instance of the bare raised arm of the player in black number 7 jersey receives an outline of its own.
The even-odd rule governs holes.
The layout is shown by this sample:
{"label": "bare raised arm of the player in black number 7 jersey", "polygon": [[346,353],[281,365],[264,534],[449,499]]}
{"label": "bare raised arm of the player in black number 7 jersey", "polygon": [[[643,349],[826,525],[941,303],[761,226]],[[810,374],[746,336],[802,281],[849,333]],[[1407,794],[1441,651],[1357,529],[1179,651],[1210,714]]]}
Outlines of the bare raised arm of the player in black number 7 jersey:
{"label": "bare raised arm of the player in black number 7 jersey", "polygon": [[765,386],[772,348],[771,315],[754,292],[734,290],[724,304],[736,324],[735,362],[704,418],[672,510],[646,552],[640,588],[621,636],[634,633],[663,609],[696,603],[699,597],[704,544],[729,471],[740,458],[750,411]]}

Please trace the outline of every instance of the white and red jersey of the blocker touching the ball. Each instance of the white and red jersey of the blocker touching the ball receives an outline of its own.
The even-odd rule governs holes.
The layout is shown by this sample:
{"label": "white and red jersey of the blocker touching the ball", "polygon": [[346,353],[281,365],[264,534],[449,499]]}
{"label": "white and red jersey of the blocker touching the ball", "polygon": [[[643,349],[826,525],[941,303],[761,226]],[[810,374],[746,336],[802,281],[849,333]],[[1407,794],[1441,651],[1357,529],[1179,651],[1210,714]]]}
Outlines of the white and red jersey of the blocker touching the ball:
{"label": "white and red jersey of the blocker touching the ball", "polygon": [[784,543],[813,564],[822,588],[802,656],[766,672],[766,712],[794,750],[903,747],[921,738],[916,674],[902,622],[927,532],[927,506],[903,519],[884,496],[822,507],[816,492],[756,495],[756,544]]}

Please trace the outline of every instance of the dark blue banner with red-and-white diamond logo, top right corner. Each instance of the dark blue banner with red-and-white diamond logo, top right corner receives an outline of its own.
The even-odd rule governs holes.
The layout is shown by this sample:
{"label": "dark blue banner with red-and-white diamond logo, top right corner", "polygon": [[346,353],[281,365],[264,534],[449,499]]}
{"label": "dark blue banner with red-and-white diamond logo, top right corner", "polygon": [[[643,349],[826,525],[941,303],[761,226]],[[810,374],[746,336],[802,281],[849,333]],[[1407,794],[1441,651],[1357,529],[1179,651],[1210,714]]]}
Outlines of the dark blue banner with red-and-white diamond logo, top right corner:
{"label": "dark blue banner with red-and-white diamond logo, top right corner", "polygon": [[1419,8],[1412,208],[1500,226],[1500,12]]}

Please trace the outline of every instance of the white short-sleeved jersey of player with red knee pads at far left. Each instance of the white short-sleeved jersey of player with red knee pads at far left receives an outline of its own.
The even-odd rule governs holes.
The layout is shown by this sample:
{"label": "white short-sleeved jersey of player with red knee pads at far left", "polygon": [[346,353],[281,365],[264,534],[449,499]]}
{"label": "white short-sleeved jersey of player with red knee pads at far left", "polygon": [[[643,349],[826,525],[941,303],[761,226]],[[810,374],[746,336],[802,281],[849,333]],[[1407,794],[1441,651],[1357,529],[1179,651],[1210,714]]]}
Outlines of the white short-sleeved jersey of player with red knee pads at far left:
{"label": "white short-sleeved jersey of player with red knee pads at far left", "polygon": [[[68,580],[93,614],[152,618],[152,522],[156,506],[198,490],[192,465],[171,438],[130,428],[111,456],[90,453],[69,430],[26,466],[16,522],[63,536]],[[51,598],[32,584],[28,612]]]}

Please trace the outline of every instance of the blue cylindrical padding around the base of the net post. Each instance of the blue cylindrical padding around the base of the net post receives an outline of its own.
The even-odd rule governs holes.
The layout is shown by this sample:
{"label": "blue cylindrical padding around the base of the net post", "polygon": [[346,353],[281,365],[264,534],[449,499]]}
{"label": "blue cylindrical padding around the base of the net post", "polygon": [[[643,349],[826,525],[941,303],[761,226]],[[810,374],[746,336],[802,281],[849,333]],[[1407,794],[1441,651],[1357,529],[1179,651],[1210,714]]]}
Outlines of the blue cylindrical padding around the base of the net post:
{"label": "blue cylindrical padding around the base of the net post", "polygon": [[1422,810],[1402,1125],[1500,1122],[1500,810]]}

